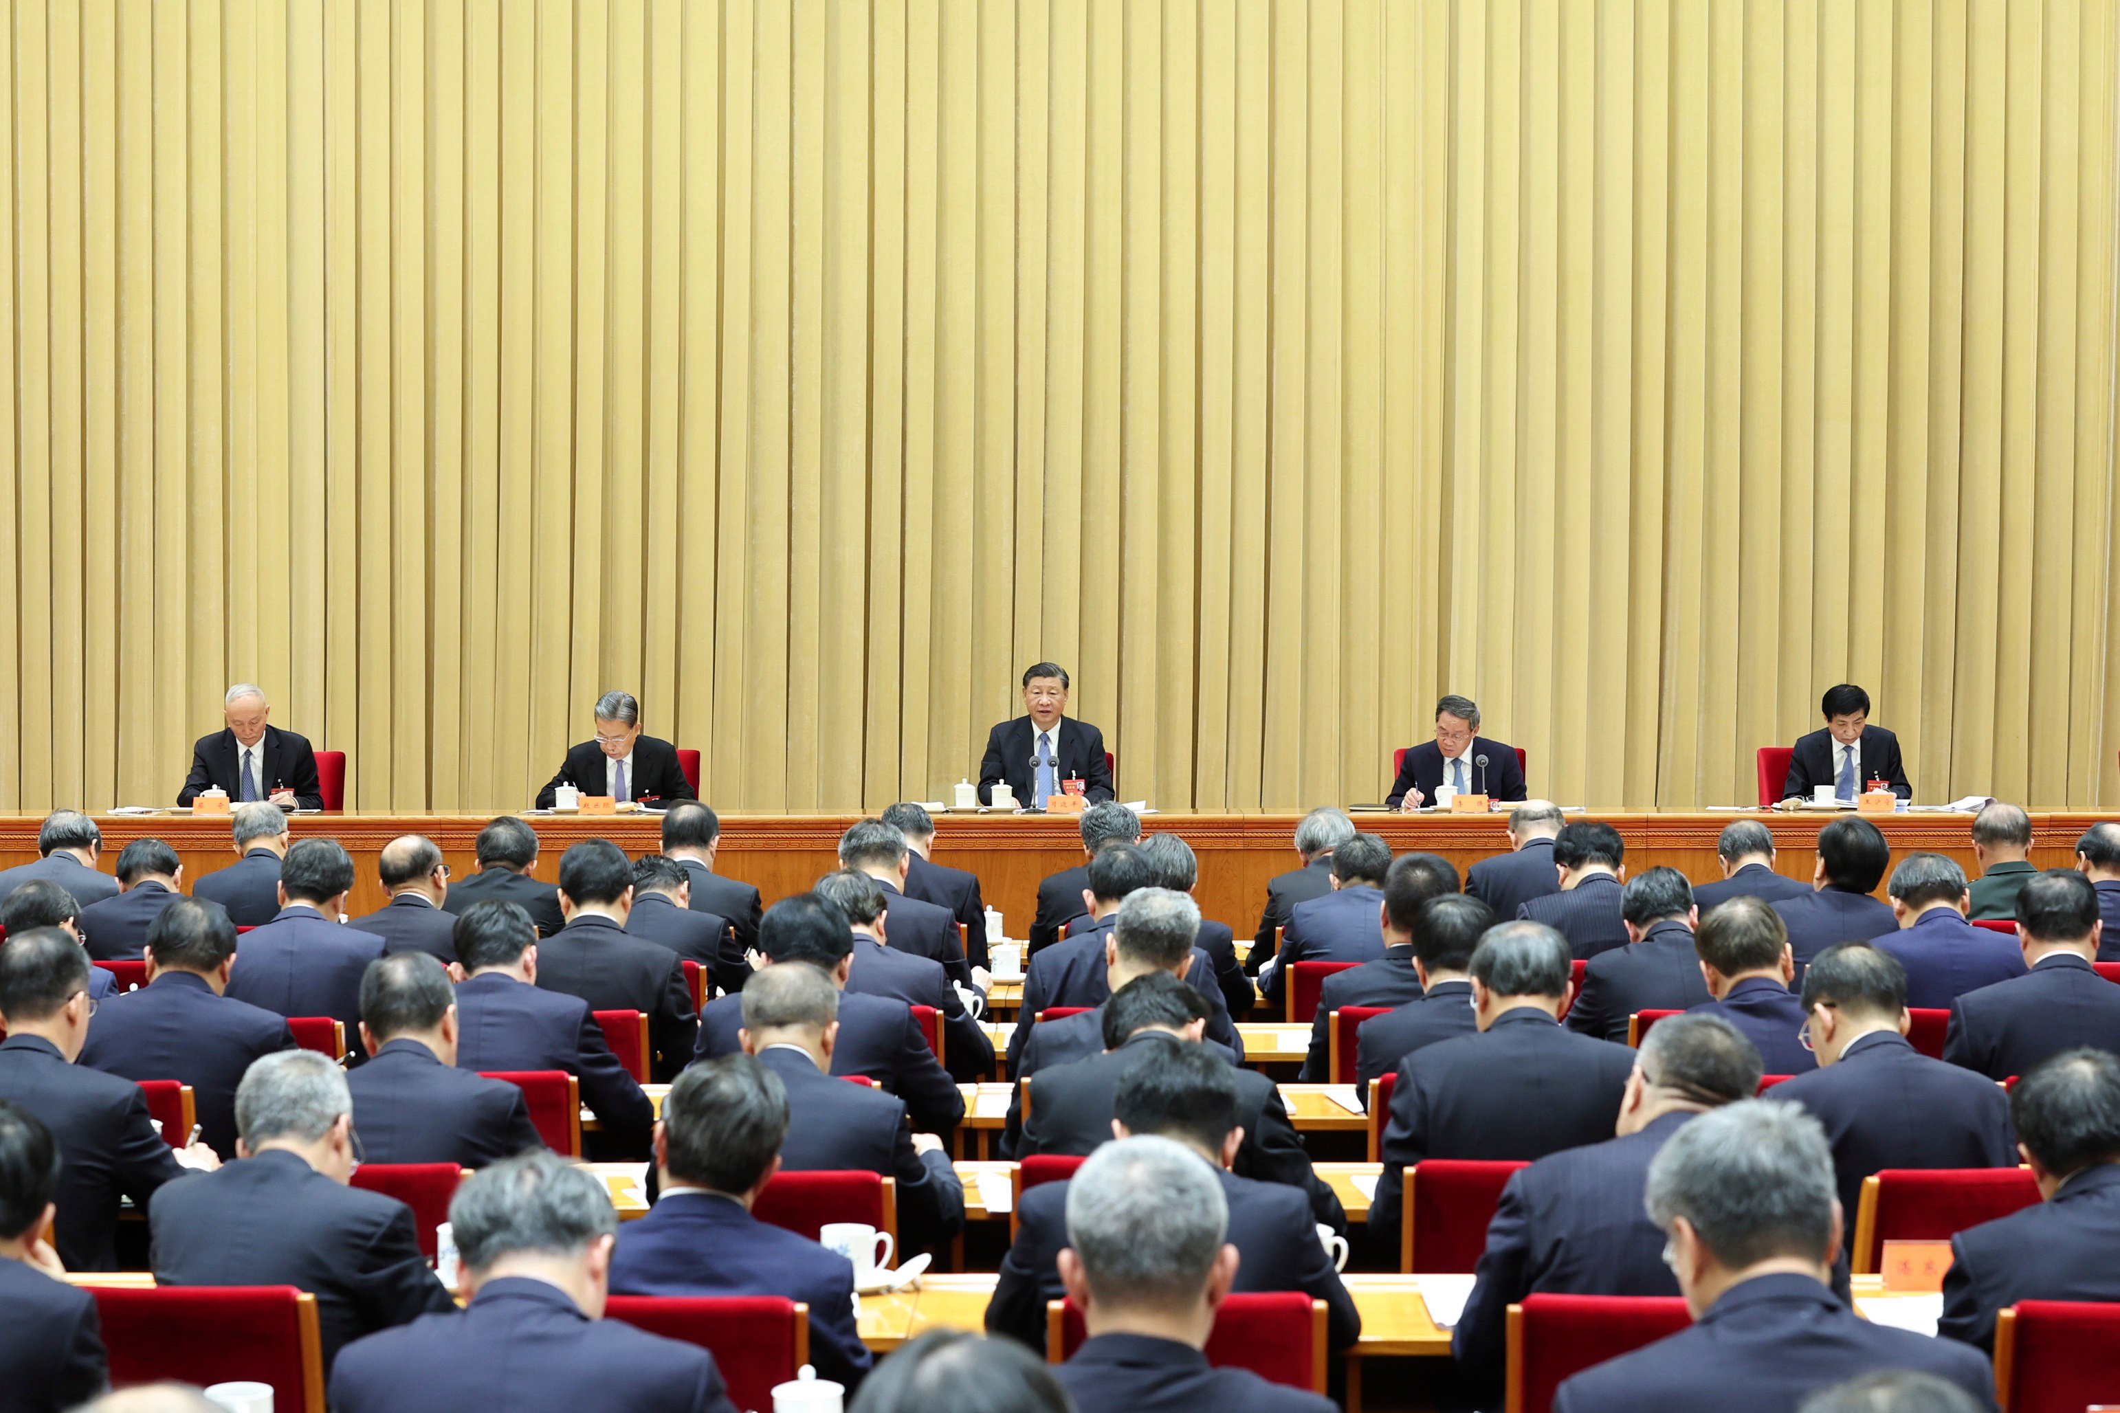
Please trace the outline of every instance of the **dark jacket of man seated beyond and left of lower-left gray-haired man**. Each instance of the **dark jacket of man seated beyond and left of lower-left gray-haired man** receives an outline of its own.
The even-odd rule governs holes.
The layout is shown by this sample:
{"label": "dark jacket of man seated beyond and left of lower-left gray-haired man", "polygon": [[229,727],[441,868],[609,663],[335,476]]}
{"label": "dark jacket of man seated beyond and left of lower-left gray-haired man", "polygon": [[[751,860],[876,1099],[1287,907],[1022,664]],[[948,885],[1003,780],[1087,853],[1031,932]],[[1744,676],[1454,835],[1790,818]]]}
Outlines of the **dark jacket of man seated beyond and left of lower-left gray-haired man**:
{"label": "dark jacket of man seated beyond and left of lower-left gray-haired man", "polygon": [[[358,1032],[346,1038],[360,1044]],[[184,1080],[199,1138],[235,1157],[235,1087],[250,1061],[295,1049],[286,1019],[263,1006],[214,996],[206,977],[161,972],[153,983],[102,1002],[89,1021],[81,1063],[129,1080]]]}

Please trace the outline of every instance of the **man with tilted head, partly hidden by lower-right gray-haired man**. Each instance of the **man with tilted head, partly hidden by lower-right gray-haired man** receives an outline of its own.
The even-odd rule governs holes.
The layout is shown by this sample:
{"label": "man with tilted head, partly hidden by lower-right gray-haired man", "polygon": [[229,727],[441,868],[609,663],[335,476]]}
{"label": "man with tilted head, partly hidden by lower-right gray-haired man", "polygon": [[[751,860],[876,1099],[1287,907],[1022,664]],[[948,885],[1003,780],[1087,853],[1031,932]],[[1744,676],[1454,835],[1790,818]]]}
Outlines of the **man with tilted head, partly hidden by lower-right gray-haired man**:
{"label": "man with tilted head, partly hidden by lower-right gray-haired man", "polygon": [[1728,1021],[1671,1017],[1643,1038],[1626,1076],[1620,1135],[1552,1152],[1509,1178],[1450,1335],[1450,1354],[1482,1394],[1499,1402],[1505,1316],[1526,1294],[1679,1292],[1664,1233],[1641,1208],[1649,1161],[1696,1114],[1757,1087],[1760,1053]]}

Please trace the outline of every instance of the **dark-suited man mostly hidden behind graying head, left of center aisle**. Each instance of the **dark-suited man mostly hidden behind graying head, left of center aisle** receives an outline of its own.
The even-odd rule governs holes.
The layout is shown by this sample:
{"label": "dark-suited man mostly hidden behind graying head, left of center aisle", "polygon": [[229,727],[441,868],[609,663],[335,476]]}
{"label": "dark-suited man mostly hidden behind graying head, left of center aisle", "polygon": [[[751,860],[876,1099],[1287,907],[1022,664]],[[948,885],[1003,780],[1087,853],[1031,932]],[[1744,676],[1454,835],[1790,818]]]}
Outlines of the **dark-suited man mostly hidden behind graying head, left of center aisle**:
{"label": "dark-suited man mostly hidden behind graying head, left of center aisle", "polygon": [[[946,1133],[965,1119],[965,1091],[935,1061],[920,1036],[912,1006],[888,996],[848,991],[854,938],[846,913],[831,898],[795,894],[772,905],[759,926],[757,958],[767,966],[808,962],[842,989],[840,1032],[831,1049],[831,1074],[865,1074],[905,1099],[914,1127]],[[700,1044],[693,1059],[736,1055],[744,1049],[744,998],[723,996],[700,1015]]]}

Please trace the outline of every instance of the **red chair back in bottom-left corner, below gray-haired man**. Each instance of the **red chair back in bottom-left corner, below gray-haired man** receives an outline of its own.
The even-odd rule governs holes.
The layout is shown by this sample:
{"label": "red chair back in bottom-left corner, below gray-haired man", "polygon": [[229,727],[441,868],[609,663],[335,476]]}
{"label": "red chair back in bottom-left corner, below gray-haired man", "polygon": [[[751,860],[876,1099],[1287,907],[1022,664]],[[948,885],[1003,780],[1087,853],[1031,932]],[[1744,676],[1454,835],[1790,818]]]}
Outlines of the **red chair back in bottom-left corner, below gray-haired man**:
{"label": "red chair back in bottom-left corner, below gray-haired man", "polygon": [[110,1383],[271,1383],[271,1407],[324,1413],[316,1296],[293,1286],[89,1286]]}

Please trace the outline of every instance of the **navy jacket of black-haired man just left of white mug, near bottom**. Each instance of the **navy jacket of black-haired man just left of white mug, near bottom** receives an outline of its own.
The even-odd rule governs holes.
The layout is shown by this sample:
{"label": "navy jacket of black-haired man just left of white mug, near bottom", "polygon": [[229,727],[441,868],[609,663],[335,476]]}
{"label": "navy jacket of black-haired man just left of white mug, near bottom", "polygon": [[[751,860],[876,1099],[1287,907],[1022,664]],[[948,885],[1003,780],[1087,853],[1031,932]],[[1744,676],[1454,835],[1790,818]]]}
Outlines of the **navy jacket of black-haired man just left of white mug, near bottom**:
{"label": "navy jacket of black-haired man just left of white mug, near bottom", "polygon": [[854,1324],[854,1267],[846,1256],[697,1188],[666,1188],[647,1216],[619,1224],[611,1294],[774,1294],[810,1307],[818,1379],[852,1392],[873,1362]]}

